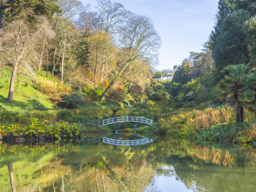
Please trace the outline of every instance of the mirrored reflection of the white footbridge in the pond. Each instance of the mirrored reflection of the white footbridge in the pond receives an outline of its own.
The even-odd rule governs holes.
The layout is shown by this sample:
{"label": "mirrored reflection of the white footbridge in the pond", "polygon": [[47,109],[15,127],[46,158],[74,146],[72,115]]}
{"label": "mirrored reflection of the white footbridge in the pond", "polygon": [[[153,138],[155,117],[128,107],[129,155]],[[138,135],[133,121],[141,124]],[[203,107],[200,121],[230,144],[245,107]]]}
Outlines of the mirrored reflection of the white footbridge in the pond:
{"label": "mirrored reflection of the white footbridge in the pond", "polygon": [[103,138],[103,143],[109,145],[117,145],[117,146],[134,146],[134,145],[144,145],[147,143],[151,143],[153,140],[148,138],[143,138],[140,140],[114,140],[110,138]]}

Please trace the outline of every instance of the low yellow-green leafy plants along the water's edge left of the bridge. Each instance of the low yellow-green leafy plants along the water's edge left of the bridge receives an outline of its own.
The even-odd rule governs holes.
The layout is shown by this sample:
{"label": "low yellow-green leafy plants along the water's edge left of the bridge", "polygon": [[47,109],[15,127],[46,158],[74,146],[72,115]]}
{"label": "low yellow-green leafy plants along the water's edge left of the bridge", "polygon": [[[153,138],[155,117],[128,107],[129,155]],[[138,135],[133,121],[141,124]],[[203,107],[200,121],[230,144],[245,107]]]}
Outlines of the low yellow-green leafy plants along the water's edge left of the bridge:
{"label": "low yellow-green leafy plants along the water's edge left of the bridge", "polygon": [[31,124],[0,124],[0,135],[4,141],[10,139],[23,138],[28,141],[44,140],[44,141],[60,141],[80,138],[82,132],[97,133],[108,132],[108,127],[103,129],[95,129],[95,127],[81,127],[77,124],[68,124],[68,122],[41,122],[33,120]]}

